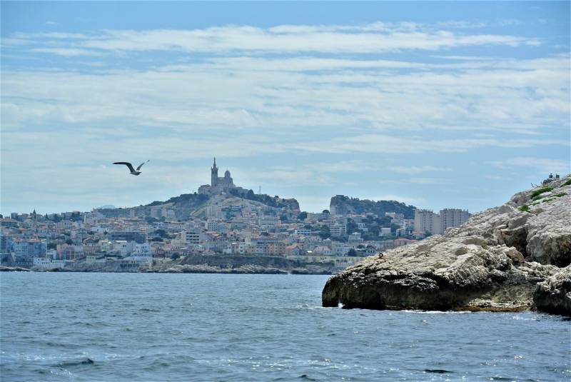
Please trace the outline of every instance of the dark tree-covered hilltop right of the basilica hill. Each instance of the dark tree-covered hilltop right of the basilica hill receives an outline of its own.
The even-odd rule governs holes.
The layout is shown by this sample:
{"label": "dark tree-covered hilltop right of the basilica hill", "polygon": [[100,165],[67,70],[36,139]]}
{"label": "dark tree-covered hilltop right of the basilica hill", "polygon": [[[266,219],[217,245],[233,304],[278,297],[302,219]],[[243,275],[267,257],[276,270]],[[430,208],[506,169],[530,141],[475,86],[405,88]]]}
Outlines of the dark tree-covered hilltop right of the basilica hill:
{"label": "dark tree-covered hilltop right of the basilica hill", "polygon": [[349,198],[344,195],[336,195],[331,198],[329,211],[333,215],[346,215],[348,213],[375,213],[377,216],[385,216],[385,212],[403,213],[405,218],[415,218],[415,207],[407,206],[398,201],[370,201],[368,199]]}

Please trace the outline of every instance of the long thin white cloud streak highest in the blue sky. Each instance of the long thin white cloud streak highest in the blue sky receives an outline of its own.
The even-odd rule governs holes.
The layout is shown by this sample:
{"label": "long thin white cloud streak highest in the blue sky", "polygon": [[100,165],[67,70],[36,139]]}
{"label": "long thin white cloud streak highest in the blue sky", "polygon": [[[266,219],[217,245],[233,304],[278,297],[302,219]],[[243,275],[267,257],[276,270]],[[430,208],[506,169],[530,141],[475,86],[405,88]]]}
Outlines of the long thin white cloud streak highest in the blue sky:
{"label": "long thin white cloud streak highest in the blue sky", "polygon": [[[448,27],[450,25],[443,25]],[[455,34],[415,23],[373,23],[365,25],[281,25],[258,28],[248,25],[217,26],[206,29],[106,30],[94,34],[15,33],[14,39],[61,45],[68,49],[106,51],[186,51],[186,52],[320,52],[379,53],[400,50],[431,51],[461,46],[540,44],[537,39],[500,34]],[[61,47],[61,46],[60,46]],[[58,54],[57,51],[54,51]]]}

